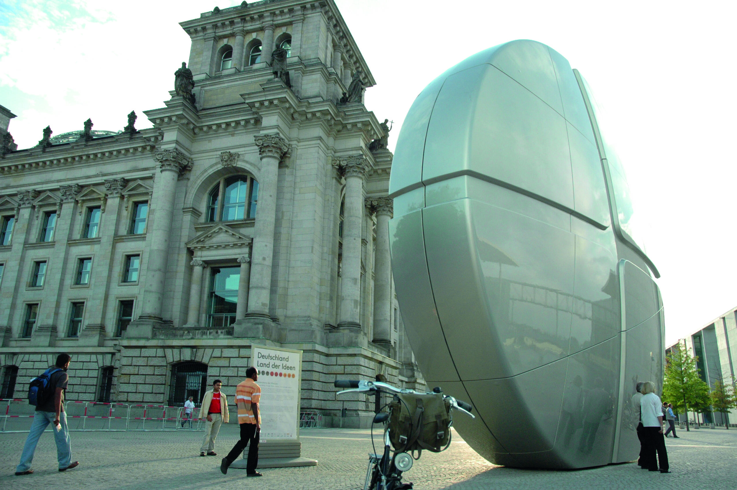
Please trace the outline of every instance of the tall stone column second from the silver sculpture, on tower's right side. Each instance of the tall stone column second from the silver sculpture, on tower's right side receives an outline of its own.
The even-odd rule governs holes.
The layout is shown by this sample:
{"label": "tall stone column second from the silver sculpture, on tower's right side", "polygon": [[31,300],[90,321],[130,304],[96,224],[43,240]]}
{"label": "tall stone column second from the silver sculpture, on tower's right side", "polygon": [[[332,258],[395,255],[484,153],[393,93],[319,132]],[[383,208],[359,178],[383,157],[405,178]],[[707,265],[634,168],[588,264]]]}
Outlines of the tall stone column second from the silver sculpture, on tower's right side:
{"label": "tall stone column second from the silver sculpture, on tower's right side", "polygon": [[363,155],[337,160],[346,178],[343,209],[343,259],[340,265],[340,318],[338,328],[360,329],[361,224],[363,222],[363,177],[368,164]]}

